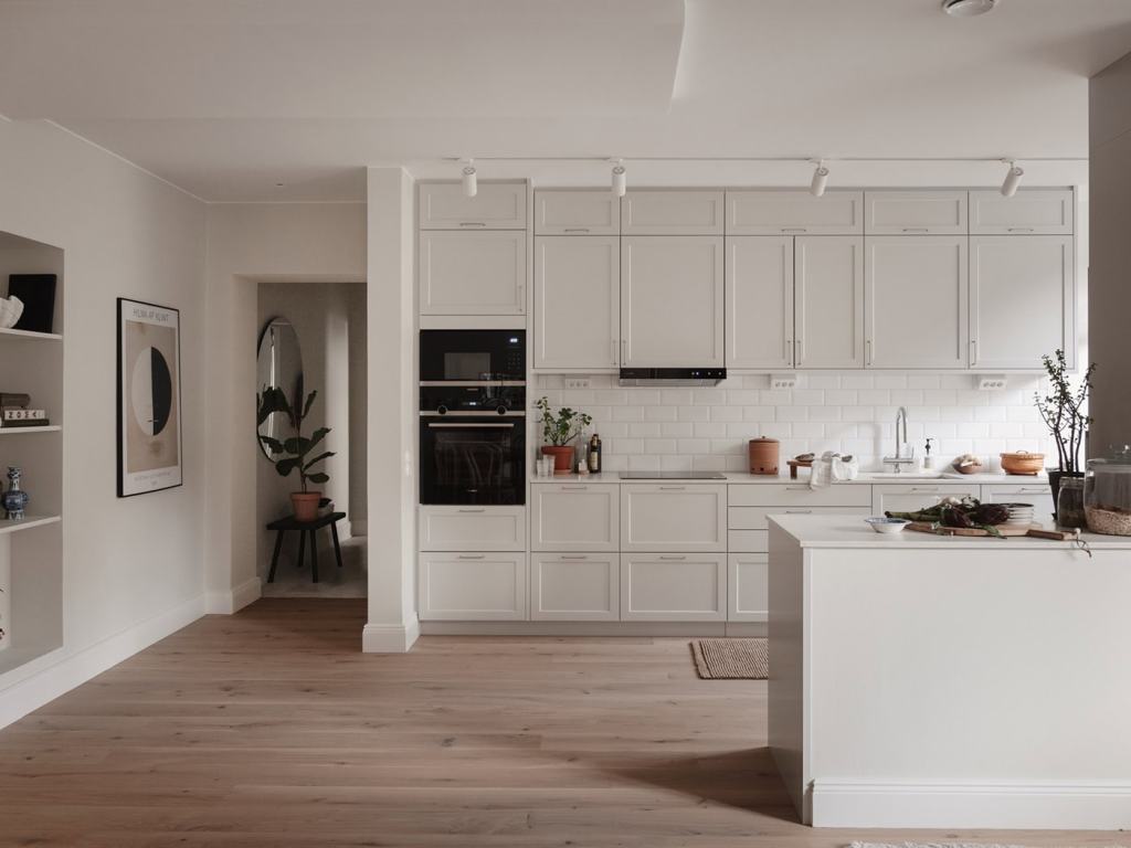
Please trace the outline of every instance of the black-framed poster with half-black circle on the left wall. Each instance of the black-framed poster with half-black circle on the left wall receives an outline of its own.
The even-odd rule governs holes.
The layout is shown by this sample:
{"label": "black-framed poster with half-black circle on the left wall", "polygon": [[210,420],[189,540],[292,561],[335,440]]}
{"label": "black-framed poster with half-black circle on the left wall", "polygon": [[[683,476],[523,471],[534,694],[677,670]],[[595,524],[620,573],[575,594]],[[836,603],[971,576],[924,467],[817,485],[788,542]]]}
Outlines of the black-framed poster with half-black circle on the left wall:
{"label": "black-framed poster with half-black circle on the left wall", "polygon": [[118,298],[118,496],[180,486],[181,313]]}

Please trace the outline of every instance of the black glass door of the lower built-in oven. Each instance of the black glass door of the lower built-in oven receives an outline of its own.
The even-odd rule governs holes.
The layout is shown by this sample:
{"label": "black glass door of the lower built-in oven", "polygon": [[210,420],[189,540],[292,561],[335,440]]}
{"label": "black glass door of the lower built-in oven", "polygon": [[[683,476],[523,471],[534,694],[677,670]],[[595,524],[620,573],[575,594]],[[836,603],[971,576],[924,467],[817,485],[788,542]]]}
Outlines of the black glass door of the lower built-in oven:
{"label": "black glass door of the lower built-in oven", "polygon": [[526,418],[421,418],[421,503],[526,501]]}

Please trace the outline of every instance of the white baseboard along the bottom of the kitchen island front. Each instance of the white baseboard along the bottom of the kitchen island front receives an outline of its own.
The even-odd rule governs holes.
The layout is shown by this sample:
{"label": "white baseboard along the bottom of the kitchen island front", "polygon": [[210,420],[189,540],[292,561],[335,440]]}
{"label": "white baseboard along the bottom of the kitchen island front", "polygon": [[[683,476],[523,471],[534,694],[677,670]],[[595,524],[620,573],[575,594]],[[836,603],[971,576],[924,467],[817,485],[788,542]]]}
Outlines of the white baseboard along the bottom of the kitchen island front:
{"label": "white baseboard along the bottom of the kitchen island front", "polygon": [[1131,782],[814,780],[814,828],[1120,830]]}

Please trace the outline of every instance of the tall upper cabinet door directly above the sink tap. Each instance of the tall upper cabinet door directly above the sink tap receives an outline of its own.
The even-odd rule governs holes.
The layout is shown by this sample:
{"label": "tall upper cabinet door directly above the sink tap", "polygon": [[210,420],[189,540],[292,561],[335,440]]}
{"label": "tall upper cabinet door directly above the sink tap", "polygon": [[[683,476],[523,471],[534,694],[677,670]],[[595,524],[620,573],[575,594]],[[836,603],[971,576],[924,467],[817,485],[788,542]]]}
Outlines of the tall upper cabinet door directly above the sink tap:
{"label": "tall upper cabinet door directly above the sink tap", "polygon": [[967,237],[878,235],[865,246],[867,367],[966,367]]}

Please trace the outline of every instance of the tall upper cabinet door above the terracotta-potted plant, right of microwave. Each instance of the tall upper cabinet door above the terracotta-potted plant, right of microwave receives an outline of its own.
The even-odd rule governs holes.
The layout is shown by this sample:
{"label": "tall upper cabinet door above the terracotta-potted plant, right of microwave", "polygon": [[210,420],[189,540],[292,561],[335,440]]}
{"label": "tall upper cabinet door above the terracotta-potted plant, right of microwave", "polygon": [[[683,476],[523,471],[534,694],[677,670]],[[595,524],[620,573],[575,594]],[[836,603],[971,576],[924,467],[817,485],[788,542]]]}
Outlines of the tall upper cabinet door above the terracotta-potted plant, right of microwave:
{"label": "tall upper cabinet door above the terracotta-potted plant, right of microwave", "polygon": [[620,362],[620,239],[534,240],[534,367],[608,371]]}

